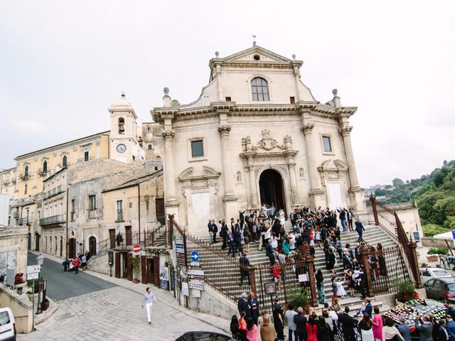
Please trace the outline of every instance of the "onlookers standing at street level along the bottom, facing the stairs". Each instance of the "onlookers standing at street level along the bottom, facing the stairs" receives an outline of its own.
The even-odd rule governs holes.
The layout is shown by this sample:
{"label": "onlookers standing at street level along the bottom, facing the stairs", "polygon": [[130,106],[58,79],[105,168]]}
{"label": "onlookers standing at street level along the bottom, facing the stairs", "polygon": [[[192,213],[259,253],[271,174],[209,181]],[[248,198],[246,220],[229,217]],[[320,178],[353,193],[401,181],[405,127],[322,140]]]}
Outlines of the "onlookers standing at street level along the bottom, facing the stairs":
{"label": "onlookers standing at street level along the bottom, facing the stairs", "polygon": [[[455,309],[447,302],[444,320],[434,320],[431,315],[415,318],[415,328],[420,341],[454,341]],[[342,307],[336,299],[332,305],[324,303],[321,314],[316,310],[304,311],[289,304],[283,307],[275,296],[272,316],[259,312],[254,293],[242,293],[237,305],[239,315],[232,315],[230,331],[239,341],[411,341],[411,327],[405,318],[400,323],[383,317],[380,309],[368,298],[354,314],[348,306]]]}

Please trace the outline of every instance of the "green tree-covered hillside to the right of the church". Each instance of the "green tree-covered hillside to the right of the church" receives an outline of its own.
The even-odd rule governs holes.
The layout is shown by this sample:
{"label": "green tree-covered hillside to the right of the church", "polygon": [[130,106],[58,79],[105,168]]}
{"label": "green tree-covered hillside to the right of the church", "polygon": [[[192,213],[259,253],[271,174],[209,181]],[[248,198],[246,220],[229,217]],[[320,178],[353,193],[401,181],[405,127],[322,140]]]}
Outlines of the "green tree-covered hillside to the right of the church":
{"label": "green tree-covered hillside to the right of the church", "polygon": [[455,160],[444,161],[429,175],[406,182],[395,178],[392,186],[375,190],[382,203],[414,201],[419,206],[424,234],[432,236],[455,229]]}

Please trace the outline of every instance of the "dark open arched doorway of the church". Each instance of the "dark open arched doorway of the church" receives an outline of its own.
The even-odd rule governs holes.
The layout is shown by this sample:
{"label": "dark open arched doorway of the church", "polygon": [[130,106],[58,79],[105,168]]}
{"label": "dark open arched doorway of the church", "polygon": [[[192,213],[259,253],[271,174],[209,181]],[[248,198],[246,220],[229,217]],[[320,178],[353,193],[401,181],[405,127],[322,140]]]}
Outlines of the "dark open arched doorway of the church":
{"label": "dark open arched doorway of the church", "polygon": [[276,210],[284,210],[287,217],[286,200],[284,198],[284,185],[282,175],[273,169],[267,169],[259,177],[259,191],[261,194],[261,205],[275,205]]}

